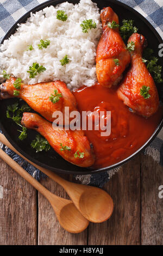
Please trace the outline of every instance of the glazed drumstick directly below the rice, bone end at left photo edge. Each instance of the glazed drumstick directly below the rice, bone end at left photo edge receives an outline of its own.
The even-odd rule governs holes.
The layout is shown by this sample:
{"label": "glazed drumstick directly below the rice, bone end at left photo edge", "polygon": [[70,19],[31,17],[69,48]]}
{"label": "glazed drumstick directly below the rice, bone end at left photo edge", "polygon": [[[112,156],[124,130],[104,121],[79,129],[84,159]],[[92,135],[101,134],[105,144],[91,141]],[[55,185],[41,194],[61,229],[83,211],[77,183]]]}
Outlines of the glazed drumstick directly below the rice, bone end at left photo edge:
{"label": "glazed drumstick directly below the rice, bone end at left photo edge", "polygon": [[[10,77],[5,83],[0,86],[0,99],[8,99],[14,97],[15,90],[14,82],[16,78]],[[55,96],[54,90],[61,96],[56,103],[53,103],[49,97],[51,94]],[[48,121],[54,121],[52,115],[55,111],[61,111],[64,114],[65,107],[69,107],[69,111],[76,110],[76,99],[66,84],[61,81],[37,83],[37,84],[24,84],[21,83],[20,94],[17,96],[28,103],[36,112],[39,112]]]}

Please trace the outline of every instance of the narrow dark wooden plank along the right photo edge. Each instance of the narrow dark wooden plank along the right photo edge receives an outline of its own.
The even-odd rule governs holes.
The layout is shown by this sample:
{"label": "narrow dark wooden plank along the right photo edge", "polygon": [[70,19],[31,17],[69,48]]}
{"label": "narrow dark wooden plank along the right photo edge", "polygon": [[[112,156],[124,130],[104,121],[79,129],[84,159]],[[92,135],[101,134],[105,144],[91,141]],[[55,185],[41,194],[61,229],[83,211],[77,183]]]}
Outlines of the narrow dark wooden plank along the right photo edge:
{"label": "narrow dark wooden plank along the right photo edge", "polygon": [[162,171],[152,157],[141,155],[142,245],[163,244],[163,199],[158,196]]}

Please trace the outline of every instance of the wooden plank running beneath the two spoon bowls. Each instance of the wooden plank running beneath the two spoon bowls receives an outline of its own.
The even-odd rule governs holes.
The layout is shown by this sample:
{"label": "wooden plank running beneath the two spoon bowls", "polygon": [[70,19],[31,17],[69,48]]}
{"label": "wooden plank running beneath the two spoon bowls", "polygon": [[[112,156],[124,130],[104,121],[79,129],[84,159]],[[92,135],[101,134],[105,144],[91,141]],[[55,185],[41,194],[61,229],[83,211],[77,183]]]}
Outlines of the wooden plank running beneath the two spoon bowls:
{"label": "wooden plank running beneath the two spoon bowls", "polygon": [[[66,175],[62,175],[65,179],[70,179]],[[71,176],[72,179],[72,176]],[[41,181],[41,184],[45,186],[49,191],[55,193],[57,196],[67,198],[64,189],[57,183],[47,178]],[[86,245],[87,242],[87,230],[84,230],[80,234],[70,234],[64,230],[54,213],[52,206],[49,204],[39,193],[39,245]]]}

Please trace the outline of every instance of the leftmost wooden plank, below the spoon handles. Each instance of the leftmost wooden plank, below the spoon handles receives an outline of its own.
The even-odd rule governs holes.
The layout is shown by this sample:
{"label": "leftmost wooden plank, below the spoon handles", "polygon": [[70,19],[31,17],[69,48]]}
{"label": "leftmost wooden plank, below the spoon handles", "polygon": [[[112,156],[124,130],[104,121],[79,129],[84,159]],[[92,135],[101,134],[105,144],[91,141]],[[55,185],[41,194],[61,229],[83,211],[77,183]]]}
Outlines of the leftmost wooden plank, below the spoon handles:
{"label": "leftmost wooden plank, below the spoon handles", "polygon": [[1,159],[0,185],[0,245],[36,245],[36,191]]}

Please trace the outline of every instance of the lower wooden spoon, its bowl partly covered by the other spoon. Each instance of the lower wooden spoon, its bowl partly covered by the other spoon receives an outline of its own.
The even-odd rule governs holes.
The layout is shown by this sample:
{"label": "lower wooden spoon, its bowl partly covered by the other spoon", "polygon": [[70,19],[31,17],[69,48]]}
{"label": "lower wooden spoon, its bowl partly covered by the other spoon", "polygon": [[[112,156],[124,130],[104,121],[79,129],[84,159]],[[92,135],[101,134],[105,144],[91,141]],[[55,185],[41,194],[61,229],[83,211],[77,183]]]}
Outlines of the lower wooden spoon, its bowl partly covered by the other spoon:
{"label": "lower wooden spoon, its bowl partly covered by the other spoon", "polygon": [[61,226],[70,233],[80,233],[89,225],[89,221],[83,217],[78,211],[76,206],[71,200],[67,200],[48,191],[38,181],[36,181],[29,173],[26,172],[18,163],[11,159],[2,149],[0,149],[0,157],[5,161],[12,169],[20,174],[25,180],[27,180],[33,187],[36,188],[43,196],[45,196],[49,203],[51,203],[55,214],[60,222]]}

